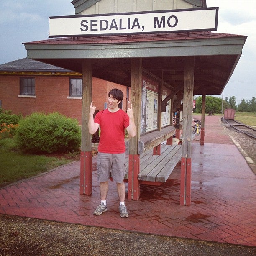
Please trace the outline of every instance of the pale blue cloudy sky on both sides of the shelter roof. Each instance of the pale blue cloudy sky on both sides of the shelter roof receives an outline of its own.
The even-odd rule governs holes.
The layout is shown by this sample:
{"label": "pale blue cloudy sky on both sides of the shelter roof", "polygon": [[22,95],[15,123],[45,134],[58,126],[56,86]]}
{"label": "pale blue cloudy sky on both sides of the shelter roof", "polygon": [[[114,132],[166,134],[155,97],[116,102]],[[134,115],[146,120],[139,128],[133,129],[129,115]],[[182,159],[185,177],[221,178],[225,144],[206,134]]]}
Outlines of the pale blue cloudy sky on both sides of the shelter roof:
{"label": "pale blue cloudy sky on both sides of the shelter roof", "polygon": [[[239,104],[256,97],[256,0],[207,0],[207,7],[216,6],[217,32],[248,36],[223,92]],[[22,43],[47,39],[48,17],[59,15],[74,15],[71,0],[0,0],[0,64],[26,57]]]}

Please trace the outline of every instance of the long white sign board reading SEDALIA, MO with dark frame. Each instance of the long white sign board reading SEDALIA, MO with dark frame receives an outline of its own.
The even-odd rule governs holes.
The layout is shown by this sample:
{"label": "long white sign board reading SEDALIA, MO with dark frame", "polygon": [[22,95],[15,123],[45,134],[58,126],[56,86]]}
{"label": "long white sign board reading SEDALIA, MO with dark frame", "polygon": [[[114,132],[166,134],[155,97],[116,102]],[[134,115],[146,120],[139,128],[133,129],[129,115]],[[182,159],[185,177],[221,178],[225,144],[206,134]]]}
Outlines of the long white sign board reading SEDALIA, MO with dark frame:
{"label": "long white sign board reading SEDALIA, MO with dark frame", "polygon": [[49,37],[216,31],[218,7],[49,17]]}

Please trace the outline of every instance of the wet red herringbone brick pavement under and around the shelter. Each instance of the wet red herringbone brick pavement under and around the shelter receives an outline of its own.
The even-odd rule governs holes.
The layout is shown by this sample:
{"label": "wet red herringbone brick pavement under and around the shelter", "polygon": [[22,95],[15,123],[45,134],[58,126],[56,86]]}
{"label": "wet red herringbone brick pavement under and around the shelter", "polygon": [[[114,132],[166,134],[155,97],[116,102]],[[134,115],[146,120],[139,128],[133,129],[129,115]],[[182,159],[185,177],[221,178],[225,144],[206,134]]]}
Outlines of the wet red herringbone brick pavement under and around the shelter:
{"label": "wet red herringbone brick pavement under and around the shelter", "polygon": [[205,117],[205,145],[192,143],[192,203],[179,205],[180,164],[159,187],[141,185],[138,201],[126,200],[120,218],[115,184],[108,211],[100,202],[93,158],[92,195],[79,195],[79,162],[0,190],[0,213],[120,230],[256,246],[256,177],[220,124]]}

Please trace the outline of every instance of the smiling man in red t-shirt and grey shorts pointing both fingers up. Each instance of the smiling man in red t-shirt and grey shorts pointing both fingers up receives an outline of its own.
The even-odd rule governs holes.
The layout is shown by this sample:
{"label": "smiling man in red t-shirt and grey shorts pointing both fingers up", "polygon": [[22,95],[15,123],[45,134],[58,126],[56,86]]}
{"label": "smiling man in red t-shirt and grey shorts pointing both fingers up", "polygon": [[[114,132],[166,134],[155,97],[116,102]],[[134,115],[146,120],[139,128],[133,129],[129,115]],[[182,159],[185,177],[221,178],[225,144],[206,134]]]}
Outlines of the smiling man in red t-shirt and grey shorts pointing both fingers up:
{"label": "smiling man in red t-shirt and grey shorts pointing both fingers up", "polygon": [[118,107],[123,100],[123,92],[112,89],[108,93],[108,108],[98,112],[93,118],[96,107],[90,105],[88,128],[90,134],[94,134],[100,127],[100,143],[98,146],[97,174],[100,182],[101,203],[93,212],[100,215],[107,211],[108,180],[110,171],[113,181],[116,182],[120,199],[119,212],[122,218],[128,217],[125,206],[125,128],[129,136],[136,135],[132,105],[127,113]]}

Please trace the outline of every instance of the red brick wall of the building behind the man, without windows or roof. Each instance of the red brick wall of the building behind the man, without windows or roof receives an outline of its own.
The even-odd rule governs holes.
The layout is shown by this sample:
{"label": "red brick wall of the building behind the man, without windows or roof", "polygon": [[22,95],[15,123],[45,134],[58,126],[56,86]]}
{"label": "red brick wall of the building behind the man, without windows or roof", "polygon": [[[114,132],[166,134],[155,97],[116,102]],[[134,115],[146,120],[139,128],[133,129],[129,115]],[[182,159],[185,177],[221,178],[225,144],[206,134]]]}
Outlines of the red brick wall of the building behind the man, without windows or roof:
{"label": "red brick wall of the building behind the man, without windows or roof", "polygon": [[[26,77],[28,77],[26,75]],[[20,98],[20,76],[0,75],[0,100],[2,108],[12,110],[14,114],[30,115],[36,111],[59,113],[76,118],[81,124],[82,99],[68,99],[68,76],[31,76],[35,77],[36,98]],[[72,77],[74,78],[74,77]],[[123,91],[123,110],[126,110],[126,87],[93,77],[92,100],[98,110],[104,109],[108,102],[108,92],[112,88]]]}

